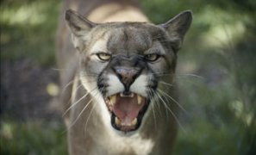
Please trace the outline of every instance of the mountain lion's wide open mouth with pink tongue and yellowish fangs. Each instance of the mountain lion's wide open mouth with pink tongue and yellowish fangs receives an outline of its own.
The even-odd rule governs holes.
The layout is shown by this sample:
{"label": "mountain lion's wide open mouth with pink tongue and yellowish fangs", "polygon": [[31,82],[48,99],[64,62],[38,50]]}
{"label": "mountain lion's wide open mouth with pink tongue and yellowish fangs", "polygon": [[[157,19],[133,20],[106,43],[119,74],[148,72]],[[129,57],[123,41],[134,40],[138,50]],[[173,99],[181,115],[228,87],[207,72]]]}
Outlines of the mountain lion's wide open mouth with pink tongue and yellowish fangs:
{"label": "mountain lion's wide open mouth with pink tongue and yellowish fangs", "polygon": [[111,115],[111,125],[117,130],[130,132],[140,127],[149,100],[136,93],[117,93],[105,98]]}

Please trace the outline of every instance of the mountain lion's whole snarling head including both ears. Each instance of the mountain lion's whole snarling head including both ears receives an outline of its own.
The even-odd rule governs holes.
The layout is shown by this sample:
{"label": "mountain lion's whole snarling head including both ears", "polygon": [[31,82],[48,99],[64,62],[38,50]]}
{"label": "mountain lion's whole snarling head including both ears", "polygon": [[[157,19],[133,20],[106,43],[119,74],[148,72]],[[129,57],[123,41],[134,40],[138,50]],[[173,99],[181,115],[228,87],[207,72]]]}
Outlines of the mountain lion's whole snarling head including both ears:
{"label": "mountain lion's whole snarling head including both ears", "polygon": [[159,26],[95,24],[72,11],[66,13],[66,20],[79,51],[81,82],[103,114],[108,113],[106,123],[125,133],[137,130],[147,121],[159,83],[172,83],[176,53],[190,25],[189,13]]}

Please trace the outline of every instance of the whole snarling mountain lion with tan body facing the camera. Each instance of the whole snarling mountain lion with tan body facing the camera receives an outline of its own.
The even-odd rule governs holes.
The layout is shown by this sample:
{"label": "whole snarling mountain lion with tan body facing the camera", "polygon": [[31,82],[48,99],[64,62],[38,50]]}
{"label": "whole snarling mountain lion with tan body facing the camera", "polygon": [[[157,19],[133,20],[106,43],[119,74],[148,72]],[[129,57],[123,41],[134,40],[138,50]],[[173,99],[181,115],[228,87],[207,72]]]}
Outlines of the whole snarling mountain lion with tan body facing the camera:
{"label": "whole snarling mountain lion with tan body facing the camera", "polygon": [[69,153],[171,154],[191,12],[154,25],[134,1],[66,0],[65,10],[56,54]]}

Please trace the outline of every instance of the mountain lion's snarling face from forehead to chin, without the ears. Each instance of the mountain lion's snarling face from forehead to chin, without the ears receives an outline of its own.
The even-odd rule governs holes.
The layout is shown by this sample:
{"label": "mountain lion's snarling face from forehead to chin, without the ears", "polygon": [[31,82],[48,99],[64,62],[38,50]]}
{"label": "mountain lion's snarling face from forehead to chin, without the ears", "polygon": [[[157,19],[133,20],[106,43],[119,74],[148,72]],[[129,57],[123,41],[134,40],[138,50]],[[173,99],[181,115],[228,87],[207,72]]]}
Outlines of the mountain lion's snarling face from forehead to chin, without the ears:
{"label": "mountain lion's snarling face from forehead to chin, without the ears", "polygon": [[109,110],[109,123],[117,130],[140,127],[161,75],[173,75],[176,53],[165,35],[145,23],[105,24],[88,34],[81,80],[87,90],[100,92],[104,103],[98,103]]}

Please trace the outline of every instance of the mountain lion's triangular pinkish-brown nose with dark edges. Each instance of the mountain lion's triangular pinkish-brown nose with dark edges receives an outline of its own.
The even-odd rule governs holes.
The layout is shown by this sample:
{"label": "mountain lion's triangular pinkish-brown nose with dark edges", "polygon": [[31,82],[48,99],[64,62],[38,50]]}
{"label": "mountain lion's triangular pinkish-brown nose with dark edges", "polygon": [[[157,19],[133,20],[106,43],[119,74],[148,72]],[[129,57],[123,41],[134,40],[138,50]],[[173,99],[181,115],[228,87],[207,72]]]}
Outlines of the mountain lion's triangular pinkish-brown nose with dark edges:
{"label": "mountain lion's triangular pinkish-brown nose with dark edges", "polygon": [[114,67],[114,71],[126,90],[129,90],[130,85],[140,75],[140,69],[134,67]]}

